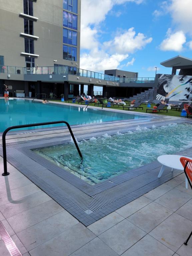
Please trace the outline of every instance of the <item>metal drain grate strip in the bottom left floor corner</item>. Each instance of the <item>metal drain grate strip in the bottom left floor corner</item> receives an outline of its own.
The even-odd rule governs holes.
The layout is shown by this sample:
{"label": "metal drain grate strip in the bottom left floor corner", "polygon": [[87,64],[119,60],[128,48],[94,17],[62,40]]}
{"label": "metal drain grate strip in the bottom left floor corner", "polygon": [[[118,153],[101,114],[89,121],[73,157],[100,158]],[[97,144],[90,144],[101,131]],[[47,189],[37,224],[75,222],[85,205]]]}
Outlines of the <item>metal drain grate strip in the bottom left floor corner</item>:
{"label": "metal drain grate strip in the bottom left floor corner", "polygon": [[9,251],[11,256],[22,256],[19,249],[11,239],[10,235],[7,233],[7,230],[3,226],[3,224],[0,221],[0,236],[5,243],[7,250]]}

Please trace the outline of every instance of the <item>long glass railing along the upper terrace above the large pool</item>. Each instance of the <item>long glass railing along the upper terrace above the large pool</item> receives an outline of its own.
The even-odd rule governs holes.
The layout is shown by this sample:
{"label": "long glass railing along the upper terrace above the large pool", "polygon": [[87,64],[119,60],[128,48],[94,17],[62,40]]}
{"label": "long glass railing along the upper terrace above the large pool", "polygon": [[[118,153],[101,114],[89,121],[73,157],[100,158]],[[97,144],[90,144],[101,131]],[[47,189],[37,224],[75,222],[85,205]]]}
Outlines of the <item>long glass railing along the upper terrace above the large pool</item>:
{"label": "long glass railing along the upper terrace above the large pool", "polygon": [[97,73],[85,69],[80,69],[71,66],[53,66],[53,67],[12,67],[0,65],[0,73],[21,74],[21,75],[76,75],[99,80],[106,80],[120,83],[154,83],[155,77],[115,77],[102,73]]}

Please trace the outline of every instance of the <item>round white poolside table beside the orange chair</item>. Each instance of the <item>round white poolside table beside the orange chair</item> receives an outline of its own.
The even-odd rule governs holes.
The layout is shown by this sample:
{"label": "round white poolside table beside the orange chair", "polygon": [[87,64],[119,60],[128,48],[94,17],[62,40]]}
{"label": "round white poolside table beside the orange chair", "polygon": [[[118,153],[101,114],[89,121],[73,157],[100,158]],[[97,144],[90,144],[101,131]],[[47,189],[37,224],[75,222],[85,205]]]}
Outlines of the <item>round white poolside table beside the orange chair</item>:
{"label": "round white poolside table beside the orange chair", "polygon": [[[163,171],[165,170],[165,167],[170,167],[171,171],[173,169],[184,171],[183,165],[180,162],[181,157],[186,156],[178,156],[178,155],[162,155],[158,156],[157,161],[162,164],[161,170],[159,172],[158,178],[161,177]],[[191,157],[187,157],[189,159],[192,159]],[[187,177],[185,177],[185,187],[188,188],[188,181]]]}

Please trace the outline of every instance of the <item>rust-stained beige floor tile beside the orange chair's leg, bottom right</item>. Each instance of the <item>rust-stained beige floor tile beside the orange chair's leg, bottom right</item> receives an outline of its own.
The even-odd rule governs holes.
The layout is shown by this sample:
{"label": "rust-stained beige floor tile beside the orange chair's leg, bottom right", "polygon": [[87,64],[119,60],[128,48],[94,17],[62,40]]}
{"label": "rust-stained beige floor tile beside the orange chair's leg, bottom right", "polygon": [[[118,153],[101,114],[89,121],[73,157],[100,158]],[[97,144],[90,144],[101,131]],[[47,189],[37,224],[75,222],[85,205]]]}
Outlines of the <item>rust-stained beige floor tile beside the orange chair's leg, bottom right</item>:
{"label": "rust-stained beige floor tile beside the orange chair's leg, bottom right", "polygon": [[176,252],[190,234],[192,221],[173,213],[149,234]]}

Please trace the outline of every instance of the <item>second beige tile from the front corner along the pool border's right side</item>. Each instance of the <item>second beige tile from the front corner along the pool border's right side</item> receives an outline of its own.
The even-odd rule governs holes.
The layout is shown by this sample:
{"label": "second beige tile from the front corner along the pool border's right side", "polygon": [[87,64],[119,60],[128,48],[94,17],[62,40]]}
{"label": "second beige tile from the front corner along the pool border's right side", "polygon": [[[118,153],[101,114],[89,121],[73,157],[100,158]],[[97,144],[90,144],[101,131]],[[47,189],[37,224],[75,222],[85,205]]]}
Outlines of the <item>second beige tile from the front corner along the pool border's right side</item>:
{"label": "second beige tile from the front corner along the pool border's right side", "polygon": [[141,196],[134,201],[126,204],[125,206],[116,210],[116,212],[122,215],[124,218],[129,217],[131,214],[137,212],[147,204],[151,203],[152,201],[144,196]]}

